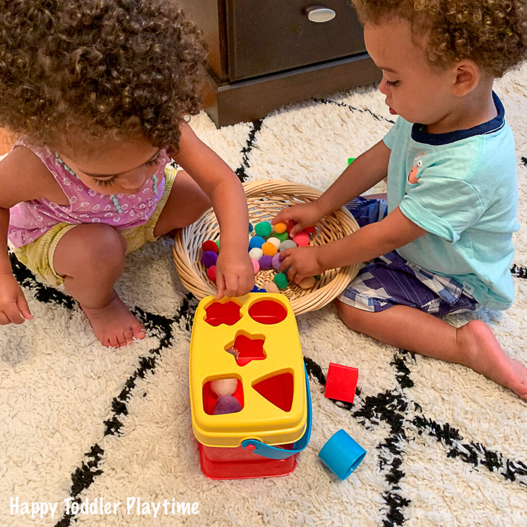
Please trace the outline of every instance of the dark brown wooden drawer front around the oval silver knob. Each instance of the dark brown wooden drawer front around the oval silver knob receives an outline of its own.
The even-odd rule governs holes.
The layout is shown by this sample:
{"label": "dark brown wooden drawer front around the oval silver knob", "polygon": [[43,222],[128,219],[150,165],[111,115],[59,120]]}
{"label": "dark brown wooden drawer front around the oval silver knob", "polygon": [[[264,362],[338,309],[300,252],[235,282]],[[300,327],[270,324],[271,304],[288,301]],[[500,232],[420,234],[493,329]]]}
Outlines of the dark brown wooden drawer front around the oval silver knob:
{"label": "dark brown wooden drawer front around the oval silver knob", "polygon": [[[314,6],[335,17],[311,22]],[[289,70],[365,51],[363,30],[348,0],[227,0],[231,81]]]}

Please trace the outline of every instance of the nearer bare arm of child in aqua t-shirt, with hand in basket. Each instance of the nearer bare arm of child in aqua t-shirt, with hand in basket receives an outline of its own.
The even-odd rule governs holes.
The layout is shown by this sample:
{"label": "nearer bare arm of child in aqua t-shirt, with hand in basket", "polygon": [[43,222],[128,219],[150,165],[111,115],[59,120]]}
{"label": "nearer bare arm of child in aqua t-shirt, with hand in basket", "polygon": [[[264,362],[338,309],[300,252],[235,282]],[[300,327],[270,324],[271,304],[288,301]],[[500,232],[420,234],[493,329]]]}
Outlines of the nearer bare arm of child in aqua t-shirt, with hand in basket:
{"label": "nearer bare arm of child in aqua t-shirt, with hand in basket", "polygon": [[282,252],[282,269],[289,268],[290,280],[299,282],[327,269],[371,260],[406,245],[427,231],[409,220],[397,207],[381,221],[318,247],[298,247]]}

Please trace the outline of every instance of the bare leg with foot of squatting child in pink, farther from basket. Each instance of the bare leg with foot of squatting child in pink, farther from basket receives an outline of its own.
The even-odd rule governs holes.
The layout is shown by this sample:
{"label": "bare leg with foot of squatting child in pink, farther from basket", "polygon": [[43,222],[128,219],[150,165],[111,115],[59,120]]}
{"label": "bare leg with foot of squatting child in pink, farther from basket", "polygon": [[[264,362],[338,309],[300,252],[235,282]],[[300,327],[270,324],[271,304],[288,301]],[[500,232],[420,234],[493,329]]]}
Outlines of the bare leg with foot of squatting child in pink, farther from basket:
{"label": "bare leg with foot of squatting child in pink, farther from basket", "polygon": [[109,225],[84,223],[65,233],[53,256],[55,271],[64,276],[64,287],[81,305],[97,338],[116,348],[145,336],[113,288],[124,269],[125,247],[124,238]]}

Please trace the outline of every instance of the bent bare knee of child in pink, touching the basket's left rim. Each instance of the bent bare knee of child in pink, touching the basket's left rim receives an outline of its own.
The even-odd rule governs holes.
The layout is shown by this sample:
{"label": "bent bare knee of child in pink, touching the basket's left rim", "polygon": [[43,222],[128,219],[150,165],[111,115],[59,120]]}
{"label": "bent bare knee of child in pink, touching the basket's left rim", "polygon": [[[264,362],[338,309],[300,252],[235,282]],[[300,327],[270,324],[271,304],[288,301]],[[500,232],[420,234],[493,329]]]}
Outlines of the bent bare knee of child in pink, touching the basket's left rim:
{"label": "bent bare knee of child in pink, touching the basket's left rim", "polygon": [[187,227],[211,206],[210,199],[187,172],[180,170],[167,203],[154,227],[154,236],[174,235],[175,229]]}

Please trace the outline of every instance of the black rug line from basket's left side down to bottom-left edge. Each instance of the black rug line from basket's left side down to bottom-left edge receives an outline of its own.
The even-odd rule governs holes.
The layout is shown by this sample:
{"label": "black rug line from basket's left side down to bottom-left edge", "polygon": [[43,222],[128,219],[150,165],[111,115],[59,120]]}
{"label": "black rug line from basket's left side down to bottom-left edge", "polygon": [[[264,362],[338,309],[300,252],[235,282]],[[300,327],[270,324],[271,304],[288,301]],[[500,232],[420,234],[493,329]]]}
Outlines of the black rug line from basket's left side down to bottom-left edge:
{"label": "black rug line from basket's left side down to bottom-left edge", "polygon": [[[127,405],[130,398],[134,395],[133,390],[136,387],[136,382],[138,379],[144,379],[149,372],[154,372],[155,367],[157,366],[157,361],[162,356],[162,350],[170,347],[173,340],[172,324],[180,323],[184,325],[184,328],[190,330],[197,303],[198,302],[194,297],[190,293],[187,293],[187,295],[183,297],[178,313],[171,318],[148,313],[138,307],[132,310],[134,315],[138,317],[143,324],[145,330],[147,330],[147,333],[159,337],[159,346],[150,349],[148,356],[142,355],[138,357],[139,366],[135,369],[135,372],[126,379],[124,388],[119,395],[112,400],[113,415],[110,419],[104,421],[104,436],[122,435],[121,429],[124,426],[123,417],[128,415]],[[147,394],[143,393],[141,395],[144,397]],[[71,475],[72,485],[69,497],[72,499],[72,503],[81,503],[79,494],[90,487],[96,476],[103,473],[99,466],[103,454],[104,450],[99,444],[93,445],[90,452],[85,454],[92,459],[88,462],[82,461],[81,466]],[[66,514],[64,512],[63,517],[55,524],[55,527],[70,527],[71,520],[74,516],[75,515],[72,513]]]}

